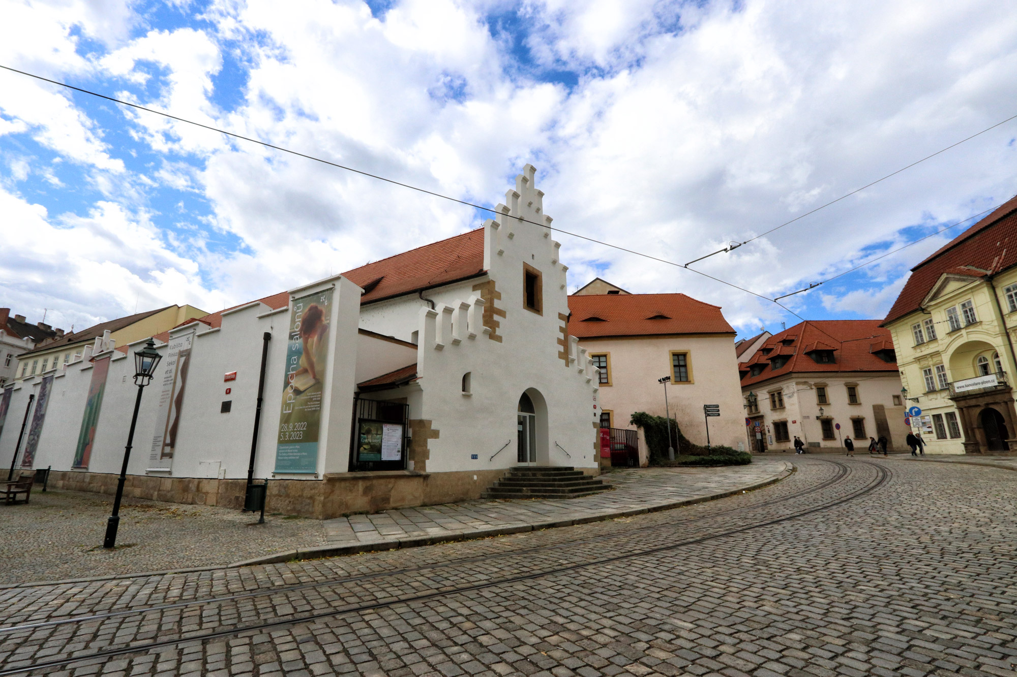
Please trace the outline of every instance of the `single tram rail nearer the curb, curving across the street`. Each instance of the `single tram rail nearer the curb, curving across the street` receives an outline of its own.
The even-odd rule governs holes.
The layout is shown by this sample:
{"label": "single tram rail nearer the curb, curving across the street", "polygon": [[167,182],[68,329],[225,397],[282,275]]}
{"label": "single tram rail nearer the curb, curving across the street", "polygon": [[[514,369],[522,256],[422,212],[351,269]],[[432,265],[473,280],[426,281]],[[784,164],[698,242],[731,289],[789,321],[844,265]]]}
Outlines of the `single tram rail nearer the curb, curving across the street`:
{"label": "single tram rail nearer the curb, curving across the street", "polygon": [[781,497],[778,497],[778,498],[768,499],[768,500],[762,501],[760,503],[755,503],[755,504],[752,504],[752,505],[742,505],[742,506],[738,506],[738,507],[735,507],[735,508],[728,508],[728,509],[720,510],[720,511],[717,511],[717,512],[714,512],[714,513],[711,513],[711,514],[707,514],[707,515],[692,516],[692,517],[687,517],[685,519],[680,519],[678,521],[668,522],[666,525],[648,525],[646,527],[638,527],[636,529],[630,529],[630,530],[626,530],[624,532],[619,532],[617,534],[611,534],[611,535],[607,535],[607,536],[597,536],[597,537],[592,537],[592,538],[587,538],[587,539],[575,539],[575,540],[571,540],[571,541],[564,541],[564,542],[561,542],[561,543],[555,543],[555,544],[550,544],[550,545],[540,545],[540,546],[534,546],[534,547],[530,547],[530,548],[521,548],[521,549],[508,550],[508,551],[504,551],[504,552],[500,552],[500,553],[490,553],[490,554],[476,555],[476,556],[472,556],[472,557],[459,557],[459,558],[452,559],[452,560],[445,560],[445,561],[440,561],[440,562],[429,562],[427,564],[420,564],[420,565],[417,565],[417,566],[403,567],[403,568],[399,568],[399,569],[386,569],[386,570],[383,570],[383,571],[375,571],[375,572],[372,572],[372,573],[363,573],[363,574],[352,575],[352,576],[342,576],[342,577],[333,578],[333,579],[330,579],[330,580],[316,580],[316,581],[312,581],[312,582],[292,583],[292,584],[289,584],[289,586],[275,586],[275,587],[271,587],[271,588],[259,588],[257,590],[245,591],[245,592],[241,592],[241,593],[233,593],[231,595],[221,595],[221,596],[215,596],[215,597],[202,597],[202,598],[195,598],[195,599],[192,599],[192,600],[181,600],[181,601],[178,601],[178,602],[167,602],[167,603],[158,604],[158,605],[152,605],[152,606],[147,606],[147,607],[133,607],[133,608],[118,609],[118,610],[115,610],[115,611],[108,611],[108,612],[104,612],[104,613],[100,613],[100,614],[67,616],[67,617],[64,617],[64,618],[49,619],[49,620],[38,621],[38,622],[20,623],[20,624],[16,624],[16,625],[0,626],[0,635],[5,634],[5,633],[10,633],[10,632],[22,631],[22,630],[32,630],[32,629],[43,628],[43,627],[65,625],[65,624],[68,624],[68,623],[84,623],[84,622],[91,622],[91,621],[102,621],[102,620],[106,620],[106,619],[109,619],[109,618],[117,618],[117,617],[123,617],[123,616],[132,616],[132,615],[146,614],[146,613],[152,613],[152,612],[157,612],[157,611],[169,611],[169,610],[172,610],[172,609],[182,609],[182,608],[186,608],[186,607],[190,607],[190,606],[195,606],[195,605],[200,605],[200,604],[215,604],[215,603],[231,602],[231,601],[237,601],[237,600],[243,600],[243,599],[250,599],[250,598],[255,598],[255,597],[264,597],[264,596],[271,596],[271,595],[300,592],[300,591],[305,591],[305,590],[314,590],[314,589],[326,588],[326,587],[331,587],[331,586],[340,586],[340,584],[343,584],[343,583],[359,582],[359,581],[371,580],[371,579],[388,577],[388,576],[400,575],[400,574],[418,573],[418,572],[426,571],[426,570],[429,570],[429,569],[443,568],[443,567],[453,567],[453,566],[457,566],[457,565],[470,564],[470,563],[479,562],[479,561],[490,561],[490,560],[494,560],[494,559],[505,559],[505,558],[508,558],[508,557],[518,557],[518,556],[521,556],[521,555],[528,555],[528,554],[533,554],[533,553],[537,553],[537,552],[546,552],[546,551],[551,551],[551,550],[560,550],[560,549],[563,549],[563,548],[570,548],[570,547],[581,546],[581,545],[588,545],[588,544],[591,544],[591,543],[602,543],[604,541],[613,540],[613,539],[629,538],[629,537],[632,537],[633,535],[640,534],[640,533],[645,533],[645,532],[648,532],[648,531],[657,531],[657,530],[669,529],[669,528],[673,528],[675,526],[685,525],[685,524],[689,524],[691,521],[699,521],[699,520],[706,520],[706,519],[715,519],[715,518],[718,518],[718,517],[729,515],[729,514],[734,513],[734,512],[740,512],[740,511],[745,511],[745,510],[759,510],[759,509],[762,509],[762,508],[770,507],[772,505],[776,505],[776,504],[780,504],[780,503],[786,503],[786,502],[789,502],[789,501],[801,498],[802,496],[807,496],[810,494],[814,494],[814,493],[820,492],[820,491],[826,489],[827,487],[830,487],[832,485],[837,484],[838,482],[841,482],[845,477],[847,477],[848,475],[850,475],[851,471],[850,471],[850,469],[848,468],[847,465],[842,464],[840,461],[830,460],[830,459],[825,459],[825,458],[822,459],[822,460],[824,463],[828,463],[828,464],[831,464],[831,465],[835,466],[837,470],[836,470],[835,474],[832,477],[830,477],[829,479],[824,480],[823,482],[821,482],[821,483],[819,483],[819,484],[817,484],[815,486],[809,487],[807,489],[803,489],[801,491],[794,492],[794,493],[789,494],[787,496],[781,496]]}

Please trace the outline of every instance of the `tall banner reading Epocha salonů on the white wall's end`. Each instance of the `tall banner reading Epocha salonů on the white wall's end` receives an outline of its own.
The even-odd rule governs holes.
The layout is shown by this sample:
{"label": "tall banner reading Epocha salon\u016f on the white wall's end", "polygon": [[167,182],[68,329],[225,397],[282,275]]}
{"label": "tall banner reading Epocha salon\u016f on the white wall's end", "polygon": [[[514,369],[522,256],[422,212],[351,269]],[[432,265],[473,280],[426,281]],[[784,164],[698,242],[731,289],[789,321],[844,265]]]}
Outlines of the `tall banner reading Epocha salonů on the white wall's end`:
{"label": "tall banner reading Epocha salon\u016f on the white wall's end", "polygon": [[293,299],[276,446],[277,473],[317,472],[333,290]]}

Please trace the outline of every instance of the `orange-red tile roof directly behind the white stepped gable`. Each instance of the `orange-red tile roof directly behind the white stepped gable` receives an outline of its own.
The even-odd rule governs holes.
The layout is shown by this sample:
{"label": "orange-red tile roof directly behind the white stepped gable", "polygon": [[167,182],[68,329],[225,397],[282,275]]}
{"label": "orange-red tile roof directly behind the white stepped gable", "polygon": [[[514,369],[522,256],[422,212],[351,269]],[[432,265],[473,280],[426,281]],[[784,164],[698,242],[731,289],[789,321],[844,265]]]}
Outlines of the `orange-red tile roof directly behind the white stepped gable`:
{"label": "orange-red tile roof directly behind the white stepped gable", "polygon": [[343,276],[364,289],[360,303],[391,299],[467,280],[484,272],[484,229],[432,242],[359,268]]}

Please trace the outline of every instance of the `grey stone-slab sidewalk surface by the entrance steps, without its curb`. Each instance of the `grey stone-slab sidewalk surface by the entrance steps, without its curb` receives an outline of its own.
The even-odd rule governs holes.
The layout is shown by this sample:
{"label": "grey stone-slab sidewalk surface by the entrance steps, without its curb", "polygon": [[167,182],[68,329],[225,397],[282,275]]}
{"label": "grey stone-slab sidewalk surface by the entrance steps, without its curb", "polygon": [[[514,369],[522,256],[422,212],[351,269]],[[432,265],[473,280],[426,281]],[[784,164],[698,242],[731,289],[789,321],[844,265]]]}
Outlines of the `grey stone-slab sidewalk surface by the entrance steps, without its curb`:
{"label": "grey stone-slab sidewalk surface by the entrance steps, without its curb", "polygon": [[324,520],[330,545],[385,543],[414,536],[448,534],[585,519],[728,492],[780,476],[784,461],[755,458],[729,468],[614,469],[601,475],[613,488],[565,500],[477,500]]}

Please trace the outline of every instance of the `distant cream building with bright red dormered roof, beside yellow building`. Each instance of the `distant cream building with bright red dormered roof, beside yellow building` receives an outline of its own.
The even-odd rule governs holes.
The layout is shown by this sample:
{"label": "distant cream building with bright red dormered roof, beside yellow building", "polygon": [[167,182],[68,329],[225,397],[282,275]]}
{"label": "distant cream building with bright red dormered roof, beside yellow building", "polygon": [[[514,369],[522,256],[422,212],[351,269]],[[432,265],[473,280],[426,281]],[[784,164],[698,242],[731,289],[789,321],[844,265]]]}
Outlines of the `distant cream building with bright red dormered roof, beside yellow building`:
{"label": "distant cream building with bright red dormered roof, beside yellow building", "polygon": [[811,448],[856,450],[885,436],[906,448],[905,408],[893,345],[879,320],[805,321],[768,338],[738,365],[745,405],[743,435],[756,452]]}

